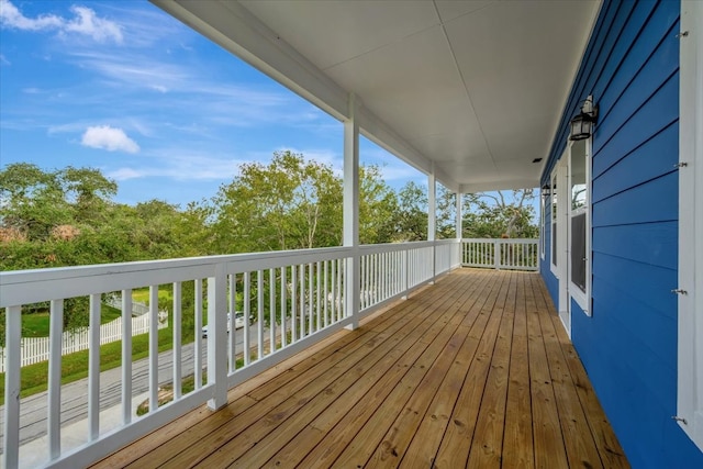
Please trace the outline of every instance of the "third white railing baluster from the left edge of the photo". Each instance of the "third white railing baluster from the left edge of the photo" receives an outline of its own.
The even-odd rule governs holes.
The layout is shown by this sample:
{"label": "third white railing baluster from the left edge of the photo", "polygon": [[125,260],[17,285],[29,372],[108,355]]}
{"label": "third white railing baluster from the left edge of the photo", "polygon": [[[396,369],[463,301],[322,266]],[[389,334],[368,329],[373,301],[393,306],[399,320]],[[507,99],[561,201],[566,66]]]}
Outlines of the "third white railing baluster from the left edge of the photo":
{"label": "third white railing baluster from the left edge of the photo", "polygon": [[100,434],[100,293],[90,295],[88,337],[88,439]]}

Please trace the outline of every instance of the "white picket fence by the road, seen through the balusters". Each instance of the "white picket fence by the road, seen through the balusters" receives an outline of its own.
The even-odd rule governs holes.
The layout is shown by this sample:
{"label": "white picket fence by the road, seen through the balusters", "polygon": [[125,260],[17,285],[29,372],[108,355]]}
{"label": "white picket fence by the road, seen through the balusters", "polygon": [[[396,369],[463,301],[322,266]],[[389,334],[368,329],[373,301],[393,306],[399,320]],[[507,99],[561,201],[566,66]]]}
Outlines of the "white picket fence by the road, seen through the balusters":
{"label": "white picket fence by the road, seen through the balusters", "polygon": [[[132,317],[132,335],[149,332],[149,323],[150,317],[148,315]],[[167,322],[159,322],[158,328],[164,328],[167,325]],[[102,324],[100,326],[100,345],[122,339],[122,317]],[[48,360],[49,344],[48,337],[22,337],[20,366],[24,367]],[[88,344],[89,334],[87,328],[74,332],[66,331],[62,334],[62,355],[86,350],[88,349]],[[4,372],[4,347],[0,347],[0,372]]]}

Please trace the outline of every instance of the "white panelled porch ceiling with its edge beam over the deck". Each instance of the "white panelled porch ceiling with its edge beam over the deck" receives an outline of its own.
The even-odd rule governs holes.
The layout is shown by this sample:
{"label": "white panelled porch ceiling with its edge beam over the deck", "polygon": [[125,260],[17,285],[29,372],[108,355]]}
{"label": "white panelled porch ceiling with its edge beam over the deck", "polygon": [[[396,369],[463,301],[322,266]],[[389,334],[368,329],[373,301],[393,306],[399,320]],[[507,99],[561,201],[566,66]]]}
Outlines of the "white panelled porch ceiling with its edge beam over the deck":
{"label": "white panelled porch ceiling with its edge beam over the deck", "polygon": [[[453,190],[536,187],[600,1],[153,0]],[[544,159],[543,159],[544,161]]]}

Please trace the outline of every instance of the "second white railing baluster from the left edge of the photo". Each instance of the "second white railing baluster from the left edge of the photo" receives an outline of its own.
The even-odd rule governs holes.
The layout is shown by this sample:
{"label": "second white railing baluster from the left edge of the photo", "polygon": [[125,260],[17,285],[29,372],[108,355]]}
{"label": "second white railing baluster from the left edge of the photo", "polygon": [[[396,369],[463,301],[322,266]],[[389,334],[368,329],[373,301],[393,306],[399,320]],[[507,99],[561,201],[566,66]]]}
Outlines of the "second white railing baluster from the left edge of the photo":
{"label": "second white railing baluster from the left edge of the photo", "polygon": [[62,453],[62,338],[64,335],[64,300],[52,300],[49,309],[48,418],[49,457]]}

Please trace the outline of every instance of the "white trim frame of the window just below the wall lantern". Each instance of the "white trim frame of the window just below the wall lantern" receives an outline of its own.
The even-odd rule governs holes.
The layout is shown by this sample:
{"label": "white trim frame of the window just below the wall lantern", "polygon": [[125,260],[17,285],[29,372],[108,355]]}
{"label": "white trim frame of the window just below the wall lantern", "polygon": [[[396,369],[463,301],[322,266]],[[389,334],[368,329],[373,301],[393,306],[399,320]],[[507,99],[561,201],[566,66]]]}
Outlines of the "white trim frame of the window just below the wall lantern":
{"label": "white trim frame of the window just below the wall lantern", "polygon": [[[571,203],[568,203],[568,241],[569,241],[569,268],[567,269],[567,277],[569,279],[569,295],[571,298],[573,298],[573,300],[577,302],[577,304],[581,308],[581,310],[585,313],[585,315],[591,316],[591,308],[590,308],[590,298],[591,298],[591,258],[592,258],[592,254],[591,254],[591,163],[592,163],[592,158],[591,158],[591,148],[592,148],[592,142],[593,142],[593,137],[587,138],[584,141],[581,141],[584,144],[584,149],[583,149],[583,158],[585,159],[584,161],[584,170],[585,170],[585,202],[584,205],[581,208],[578,208],[576,210],[573,210],[573,206]],[[571,200],[571,180],[572,180],[572,176],[571,176],[571,170],[573,169],[574,165],[572,164],[572,158],[574,157],[573,155],[573,146],[577,144],[577,142],[570,142],[569,143],[569,164],[568,164],[568,176],[567,176],[567,180],[569,181],[568,183],[568,196],[569,196],[569,201]],[[581,287],[579,287],[572,279],[571,279],[571,273],[572,273],[572,266],[571,266],[571,253],[573,252],[572,249],[572,241],[573,241],[573,232],[571,230],[571,223],[574,216],[581,215],[581,214],[585,214],[585,239],[583,241],[585,244],[585,291],[581,290]]]}

